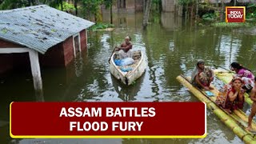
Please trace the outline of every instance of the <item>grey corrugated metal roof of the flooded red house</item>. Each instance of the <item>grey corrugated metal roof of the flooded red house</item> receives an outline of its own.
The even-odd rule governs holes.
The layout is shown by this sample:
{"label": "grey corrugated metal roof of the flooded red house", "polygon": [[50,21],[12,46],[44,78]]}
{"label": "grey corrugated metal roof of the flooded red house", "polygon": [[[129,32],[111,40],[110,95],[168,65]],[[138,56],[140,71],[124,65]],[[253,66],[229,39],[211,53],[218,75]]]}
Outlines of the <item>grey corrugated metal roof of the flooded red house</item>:
{"label": "grey corrugated metal roof of the flooded red house", "polygon": [[1,39],[42,54],[66,38],[94,25],[94,22],[46,5],[2,10],[0,19]]}

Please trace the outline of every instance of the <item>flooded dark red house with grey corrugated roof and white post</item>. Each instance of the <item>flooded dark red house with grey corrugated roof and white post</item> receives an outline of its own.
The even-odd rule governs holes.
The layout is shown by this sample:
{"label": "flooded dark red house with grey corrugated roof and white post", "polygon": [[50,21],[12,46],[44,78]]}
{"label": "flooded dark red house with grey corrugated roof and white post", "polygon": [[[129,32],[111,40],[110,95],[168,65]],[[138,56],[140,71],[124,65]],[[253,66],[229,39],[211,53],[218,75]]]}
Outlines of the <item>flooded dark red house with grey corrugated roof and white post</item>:
{"label": "flooded dark red house with grey corrugated roof and white post", "polygon": [[50,6],[0,11],[0,74],[30,65],[35,90],[42,90],[40,65],[66,66],[86,50],[94,22]]}

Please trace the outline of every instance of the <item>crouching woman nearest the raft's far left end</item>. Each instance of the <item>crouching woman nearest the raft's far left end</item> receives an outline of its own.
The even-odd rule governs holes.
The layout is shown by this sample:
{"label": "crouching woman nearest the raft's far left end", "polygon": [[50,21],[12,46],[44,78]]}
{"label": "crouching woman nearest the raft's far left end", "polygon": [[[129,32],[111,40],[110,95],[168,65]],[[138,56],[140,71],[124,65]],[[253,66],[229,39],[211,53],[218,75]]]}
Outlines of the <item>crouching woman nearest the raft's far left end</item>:
{"label": "crouching woman nearest the raft's far left end", "polygon": [[213,90],[210,82],[214,80],[214,71],[205,66],[205,62],[199,59],[191,75],[191,83],[198,88]]}

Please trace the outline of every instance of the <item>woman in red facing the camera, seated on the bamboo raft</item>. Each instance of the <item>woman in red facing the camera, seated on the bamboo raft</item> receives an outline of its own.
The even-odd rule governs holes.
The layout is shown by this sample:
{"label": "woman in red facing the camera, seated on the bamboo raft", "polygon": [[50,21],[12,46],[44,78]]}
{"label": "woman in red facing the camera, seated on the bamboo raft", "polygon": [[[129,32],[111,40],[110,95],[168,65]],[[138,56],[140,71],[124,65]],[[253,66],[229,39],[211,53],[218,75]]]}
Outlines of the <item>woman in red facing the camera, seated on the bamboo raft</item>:
{"label": "woman in red facing the camera, seated on the bamboo raft", "polygon": [[[232,81],[224,86],[222,95],[218,95],[216,103],[224,108],[228,113],[233,110],[242,109],[244,103],[244,90],[242,86],[244,82],[240,77],[234,77]],[[230,88],[228,88],[230,86]]]}

